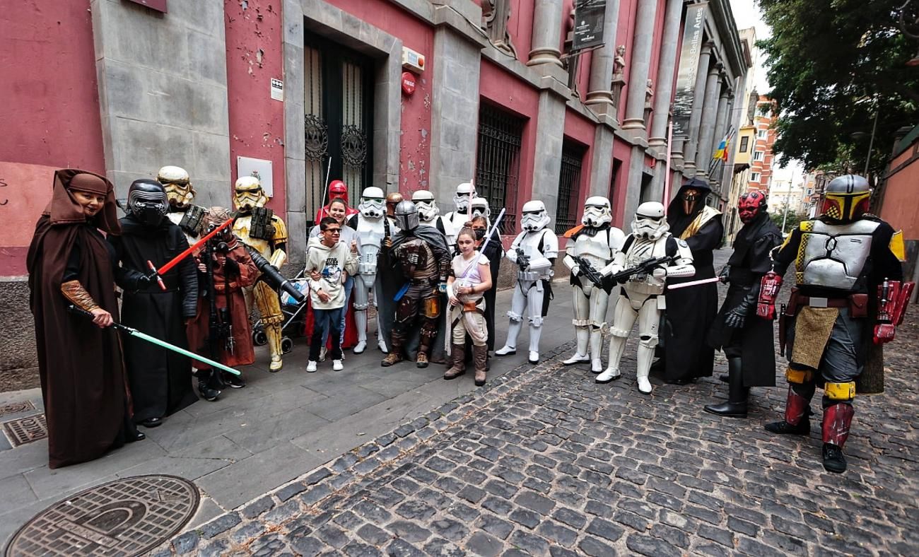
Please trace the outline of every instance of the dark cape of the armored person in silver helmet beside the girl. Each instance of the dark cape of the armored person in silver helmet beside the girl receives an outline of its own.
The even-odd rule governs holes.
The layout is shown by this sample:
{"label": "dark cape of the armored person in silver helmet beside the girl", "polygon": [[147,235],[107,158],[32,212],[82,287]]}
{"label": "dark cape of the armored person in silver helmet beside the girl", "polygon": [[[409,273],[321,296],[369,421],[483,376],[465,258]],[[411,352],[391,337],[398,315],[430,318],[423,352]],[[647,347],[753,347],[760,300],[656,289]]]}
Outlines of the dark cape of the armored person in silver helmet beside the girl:
{"label": "dark cape of the armored person in silver helmet beside the girl", "polygon": [[[452,259],[447,247],[447,237],[433,226],[419,225],[414,231],[399,231],[391,234],[389,222],[385,228],[386,237],[391,237],[392,246],[380,249],[380,256],[377,261],[377,281],[376,290],[380,292],[380,300],[377,301],[377,312],[380,313],[380,332],[386,341],[387,349],[391,348],[392,323],[395,321],[396,303],[393,300],[395,295],[402,289],[405,284],[405,277],[399,262],[391,256],[391,251],[399,244],[410,241],[415,237],[421,238],[428,245],[434,255],[440,259],[445,258],[447,261]],[[447,294],[440,297],[440,319],[437,320],[437,336],[434,339],[434,346],[431,347],[430,361],[434,363],[443,363],[446,361],[446,347],[444,339],[447,335],[447,317],[448,305]],[[409,335],[403,346],[403,353],[406,358],[414,359],[418,356],[418,345],[421,340],[421,327],[417,327]]]}

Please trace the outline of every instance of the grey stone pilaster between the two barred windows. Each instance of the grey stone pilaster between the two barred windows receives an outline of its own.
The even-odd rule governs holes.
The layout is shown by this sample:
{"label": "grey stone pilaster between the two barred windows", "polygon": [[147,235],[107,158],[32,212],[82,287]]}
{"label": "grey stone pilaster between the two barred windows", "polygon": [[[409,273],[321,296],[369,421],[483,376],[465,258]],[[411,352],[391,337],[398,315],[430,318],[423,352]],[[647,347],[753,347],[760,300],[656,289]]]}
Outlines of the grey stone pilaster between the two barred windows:
{"label": "grey stone pilaster between the two barred windows", "polygon": [[[536,123],[536,150],[533,157],[533,193],[530,199],[541,199],[552,222],[559,203],[559,175],[562,172],[562,140],[565,121],[565,98],[551,89],[539,94],[539,116]],[[516,214],[528,199],[517,196],[517,207],[508,207]],[[517,215],[519,228],[520,218]]]}

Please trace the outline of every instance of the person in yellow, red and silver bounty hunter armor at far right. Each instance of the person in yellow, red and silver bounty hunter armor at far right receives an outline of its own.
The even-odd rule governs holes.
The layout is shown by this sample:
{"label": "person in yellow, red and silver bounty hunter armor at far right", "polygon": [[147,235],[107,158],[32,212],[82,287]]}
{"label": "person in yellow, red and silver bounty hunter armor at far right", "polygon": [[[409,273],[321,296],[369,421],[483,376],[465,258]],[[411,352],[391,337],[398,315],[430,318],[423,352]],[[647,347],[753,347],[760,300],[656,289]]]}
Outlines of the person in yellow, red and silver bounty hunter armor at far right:
{"label": "person in yellow, red and silver bounty hunter armor at far right", "polygon": [[900,282],[901,234],[867,213],[871,190],[865,178],[834,178],[825,196],[823,214],[801,222],[774,253],[775,271],[763,278],[756,313],[774,317],[782,276],[794,264],[797,287],[778,327],[789,359],[785,419],[766,430],[810,433],[811,397],[819,383],[823,468],[838,473],[846,467],[843,446],[855,414],[856,380],[872,345],[892,340],[913,283]]}

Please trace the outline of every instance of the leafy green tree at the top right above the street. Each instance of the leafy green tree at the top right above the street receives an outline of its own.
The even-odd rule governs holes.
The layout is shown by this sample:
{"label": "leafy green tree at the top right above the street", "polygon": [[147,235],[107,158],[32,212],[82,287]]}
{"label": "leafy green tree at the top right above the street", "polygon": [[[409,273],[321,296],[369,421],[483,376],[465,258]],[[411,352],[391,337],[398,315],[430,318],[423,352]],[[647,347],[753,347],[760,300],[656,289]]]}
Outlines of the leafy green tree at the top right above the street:
{"label": "leafy green tree at the top right above the street", "polygon": [[785,161],[860,174],[877,114],[869,173],[883,169],[894,131],[915,124],[919,108],[919,67],[907,65],[919,42],[901,32],[903,2],[758,0],[772,29],[758,46],[779,110],[773,150]]}

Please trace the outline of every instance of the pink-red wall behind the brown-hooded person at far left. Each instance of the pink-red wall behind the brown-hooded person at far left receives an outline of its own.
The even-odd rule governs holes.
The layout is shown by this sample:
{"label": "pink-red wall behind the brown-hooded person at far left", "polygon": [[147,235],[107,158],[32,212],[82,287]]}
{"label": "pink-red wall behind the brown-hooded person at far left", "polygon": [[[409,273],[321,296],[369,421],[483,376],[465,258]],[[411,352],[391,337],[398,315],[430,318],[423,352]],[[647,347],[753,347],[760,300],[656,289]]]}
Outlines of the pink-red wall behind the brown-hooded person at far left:
{"label": "pink-red wall behind the brown-hooded person at far left", "polygon": [[105,174],[89,0],[5,2],[0,11],[0,276],[26,272],[57,168]]}

